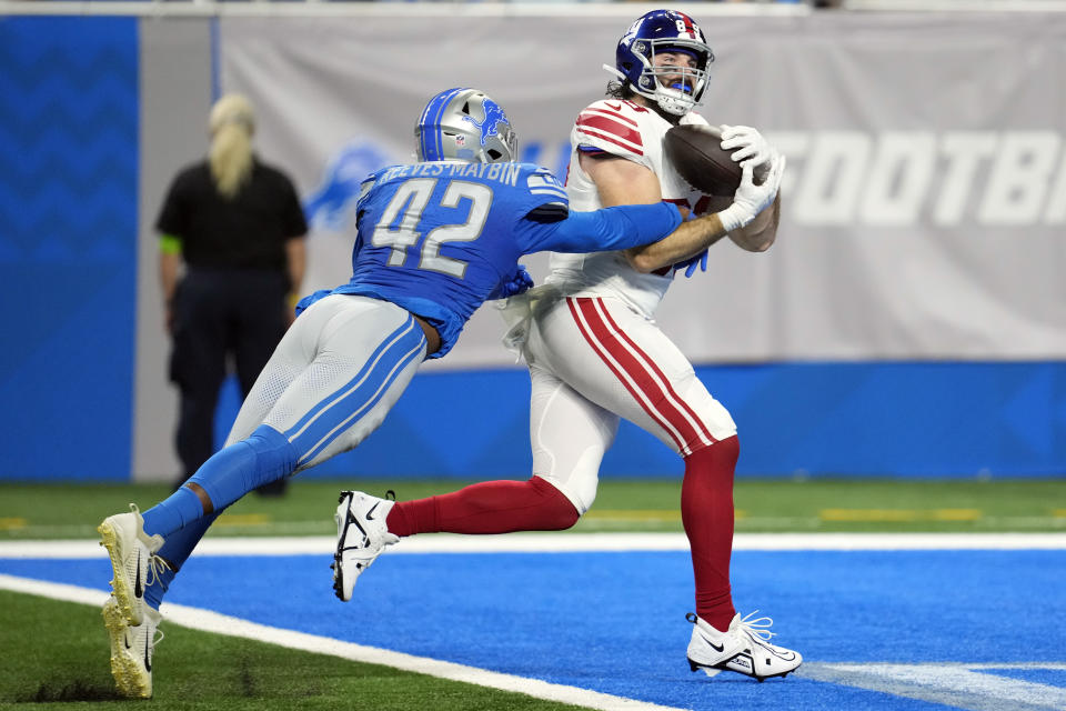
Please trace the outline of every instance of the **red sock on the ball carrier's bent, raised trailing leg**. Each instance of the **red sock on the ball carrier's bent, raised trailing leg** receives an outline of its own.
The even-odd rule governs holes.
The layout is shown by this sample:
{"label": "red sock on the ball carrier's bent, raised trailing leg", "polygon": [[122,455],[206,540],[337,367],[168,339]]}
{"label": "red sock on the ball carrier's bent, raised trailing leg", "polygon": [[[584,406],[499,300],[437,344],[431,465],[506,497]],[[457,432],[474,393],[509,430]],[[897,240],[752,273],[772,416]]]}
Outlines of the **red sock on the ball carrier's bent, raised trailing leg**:
{"label": "red sock on the ball carrier's bent, raised trailing leg", "polygon": [[398,501],[385,523],[396,535],[561,531],[580,515],[563,492],[540,477],[485,481],[429,499]]}

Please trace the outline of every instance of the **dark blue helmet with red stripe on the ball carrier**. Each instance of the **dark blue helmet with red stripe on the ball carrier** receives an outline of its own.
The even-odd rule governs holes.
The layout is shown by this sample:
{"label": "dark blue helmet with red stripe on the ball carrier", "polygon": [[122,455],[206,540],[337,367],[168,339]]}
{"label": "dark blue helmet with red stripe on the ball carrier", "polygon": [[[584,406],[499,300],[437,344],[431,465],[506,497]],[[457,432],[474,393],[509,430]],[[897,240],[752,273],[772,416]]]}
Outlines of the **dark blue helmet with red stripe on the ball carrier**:
{"label": "dark blue helmet with red stripe on the ball carrier", "polygon": [[[654,67],[658,52],[675,51],[695,58],[694,68]],[[634,22],[619,40],[615,66],[603,68],[627,83],[634,92],[655,101],[663,111],[684,116],[700,103],[707,88],[708,68],[714,53],[703,30],[691,17],[674,10],[652,10]],[[682,76],[682,81],[664,86],[660,77]]]}

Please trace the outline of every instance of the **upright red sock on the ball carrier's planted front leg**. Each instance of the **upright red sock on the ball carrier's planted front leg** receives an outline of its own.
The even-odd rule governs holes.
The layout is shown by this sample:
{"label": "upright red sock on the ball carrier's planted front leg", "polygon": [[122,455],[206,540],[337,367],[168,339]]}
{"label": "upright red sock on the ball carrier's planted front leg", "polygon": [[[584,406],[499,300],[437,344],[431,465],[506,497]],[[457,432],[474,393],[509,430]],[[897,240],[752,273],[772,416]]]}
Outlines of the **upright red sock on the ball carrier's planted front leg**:
{"label": "upright red sock on the ball carrier's planted front leg", "polygon": [[685,458],[681,521],[692,548],[696,614],[725,631],[736,611],[730,592],[733,552],[733,470],[741,445],[736,437]]}

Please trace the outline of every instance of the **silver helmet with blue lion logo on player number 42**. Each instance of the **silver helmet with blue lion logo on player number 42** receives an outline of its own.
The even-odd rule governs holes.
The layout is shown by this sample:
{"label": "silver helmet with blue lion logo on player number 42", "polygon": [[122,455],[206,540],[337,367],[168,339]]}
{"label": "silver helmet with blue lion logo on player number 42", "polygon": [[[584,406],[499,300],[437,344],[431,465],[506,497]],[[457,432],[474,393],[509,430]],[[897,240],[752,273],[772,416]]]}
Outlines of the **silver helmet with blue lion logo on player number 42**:
{"label": "silver helmet with blue lion logo on player number 42", "polygon": [[477,89],[449,89],[430,99],[414,127],[414,140],[420,161],[503,163],[519,151],[503,107]]}

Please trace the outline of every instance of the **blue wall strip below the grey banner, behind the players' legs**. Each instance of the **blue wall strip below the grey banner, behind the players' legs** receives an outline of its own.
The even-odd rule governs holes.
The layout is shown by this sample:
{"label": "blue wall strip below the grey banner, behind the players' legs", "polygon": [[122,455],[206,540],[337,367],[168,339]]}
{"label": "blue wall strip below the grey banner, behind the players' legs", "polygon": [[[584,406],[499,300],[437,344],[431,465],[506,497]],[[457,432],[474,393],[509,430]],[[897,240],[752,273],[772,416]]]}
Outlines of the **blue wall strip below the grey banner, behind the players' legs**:
{"label": "blue wall strip below the grey banner, behind the players' legs", "polygon": [[[1060,477],[1066,363],[774,363],[697,374],[740,428],[740,475]],[[355,452],[301,477],[524,478],[525,370],[419,373]],[[218,439],[237,417],[232,382]],[[428,413],[446,413],[445,417]],[[680,477],[682,462],[623,422],[606,477]]]}

